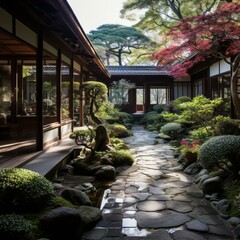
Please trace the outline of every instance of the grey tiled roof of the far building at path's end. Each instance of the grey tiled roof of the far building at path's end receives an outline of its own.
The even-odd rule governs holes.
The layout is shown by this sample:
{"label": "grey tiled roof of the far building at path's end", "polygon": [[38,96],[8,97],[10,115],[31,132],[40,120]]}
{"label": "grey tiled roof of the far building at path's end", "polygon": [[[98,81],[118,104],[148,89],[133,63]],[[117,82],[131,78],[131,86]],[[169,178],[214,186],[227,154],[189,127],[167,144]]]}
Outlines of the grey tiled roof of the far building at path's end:
{"label": "grey tiled roof of the far building at path's end", "polygon": [[166,69],[158,66],[107,66],[108,72],[114,75],[168,75]]}

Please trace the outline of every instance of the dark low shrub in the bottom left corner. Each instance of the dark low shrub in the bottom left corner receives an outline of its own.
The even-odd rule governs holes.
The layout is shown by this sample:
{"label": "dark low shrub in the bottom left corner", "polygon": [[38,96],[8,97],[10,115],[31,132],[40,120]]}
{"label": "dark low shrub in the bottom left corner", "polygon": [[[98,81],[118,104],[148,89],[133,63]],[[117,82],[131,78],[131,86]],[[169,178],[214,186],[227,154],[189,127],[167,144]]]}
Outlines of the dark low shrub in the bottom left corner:
{"label": "dark low shrub in the bottom left corner", "polygon": [[33,225],[31,221],[21,215],[0,215],[0,238],[11,240],[30,240],[32,238]]}

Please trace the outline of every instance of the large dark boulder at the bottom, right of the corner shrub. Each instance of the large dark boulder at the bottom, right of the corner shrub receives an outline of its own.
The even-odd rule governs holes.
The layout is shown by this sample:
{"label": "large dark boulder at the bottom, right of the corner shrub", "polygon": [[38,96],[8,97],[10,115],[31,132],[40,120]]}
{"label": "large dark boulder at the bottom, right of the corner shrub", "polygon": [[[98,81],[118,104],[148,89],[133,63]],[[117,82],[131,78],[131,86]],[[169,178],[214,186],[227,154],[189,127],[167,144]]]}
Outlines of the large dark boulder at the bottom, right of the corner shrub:
{"label": "large dark boulder at the bottom, right of the corner shrub", "polygon": [[80,222],[79,210],[69,207],[53,209],[40,219],[41,228],[45,232],[61,237],[75,235]]}

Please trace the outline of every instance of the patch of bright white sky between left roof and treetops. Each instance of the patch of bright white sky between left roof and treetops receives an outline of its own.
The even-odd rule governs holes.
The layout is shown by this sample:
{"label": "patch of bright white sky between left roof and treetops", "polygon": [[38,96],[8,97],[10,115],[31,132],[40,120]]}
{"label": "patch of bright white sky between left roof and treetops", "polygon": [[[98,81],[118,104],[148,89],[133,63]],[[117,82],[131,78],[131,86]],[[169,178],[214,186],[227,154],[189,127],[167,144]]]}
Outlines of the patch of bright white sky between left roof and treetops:
{"label": "patch of bright white sky between left roof and treetops", "polygon": [[84,31],[89,33],[102,24],[121,24],[131,26],[134,23],[121,19],[120,10],[124,0],[67,0]]}

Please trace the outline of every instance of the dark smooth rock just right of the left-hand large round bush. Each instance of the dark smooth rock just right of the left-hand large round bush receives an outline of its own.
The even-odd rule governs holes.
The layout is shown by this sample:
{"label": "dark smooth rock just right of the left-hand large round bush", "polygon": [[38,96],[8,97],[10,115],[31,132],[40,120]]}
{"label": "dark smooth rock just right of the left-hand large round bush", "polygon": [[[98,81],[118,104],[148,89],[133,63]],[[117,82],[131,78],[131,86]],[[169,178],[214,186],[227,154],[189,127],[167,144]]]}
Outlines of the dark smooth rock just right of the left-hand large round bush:
{"label": "dark smooth rock just right of the left-hand large round bush", "polygon": [[88,195],[81,190],[66,188],[62,191],[61,196],[75,205],[92,205]]}

